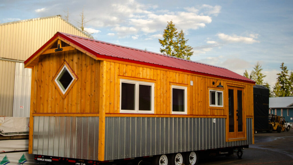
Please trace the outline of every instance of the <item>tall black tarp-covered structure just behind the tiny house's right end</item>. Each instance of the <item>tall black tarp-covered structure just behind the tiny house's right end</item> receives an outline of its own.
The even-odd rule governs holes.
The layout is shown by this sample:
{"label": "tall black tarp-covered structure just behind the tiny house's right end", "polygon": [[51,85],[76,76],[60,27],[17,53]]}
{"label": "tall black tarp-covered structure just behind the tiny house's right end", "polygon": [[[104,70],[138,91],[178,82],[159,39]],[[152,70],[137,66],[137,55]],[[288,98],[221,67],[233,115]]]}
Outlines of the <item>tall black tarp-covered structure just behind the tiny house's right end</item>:
{"label": "tall black tarp-covered structure just behind the tiny house's right end", "polygon": [[268,130],[269,115],[269,89],[261,86],[253,86],[253,111],[254,111],[254,130]]}

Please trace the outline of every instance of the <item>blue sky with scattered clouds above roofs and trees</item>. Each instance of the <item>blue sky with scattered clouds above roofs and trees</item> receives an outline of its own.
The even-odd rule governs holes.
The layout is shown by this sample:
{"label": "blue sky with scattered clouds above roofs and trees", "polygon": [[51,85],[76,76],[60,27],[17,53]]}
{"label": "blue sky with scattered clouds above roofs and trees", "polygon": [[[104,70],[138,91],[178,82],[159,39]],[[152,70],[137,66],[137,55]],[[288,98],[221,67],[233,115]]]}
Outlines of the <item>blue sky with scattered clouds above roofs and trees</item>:
{"label": "blue sky with scattered clouds above roofs and trees", "polygon": [[193,61],[243,75],[259,62],[275,85],[280,65],[293,70],[293,1],[216,0],[0,0],[0,23],[67,16],[96,40],[160,53],[168,21],[193,47]]}

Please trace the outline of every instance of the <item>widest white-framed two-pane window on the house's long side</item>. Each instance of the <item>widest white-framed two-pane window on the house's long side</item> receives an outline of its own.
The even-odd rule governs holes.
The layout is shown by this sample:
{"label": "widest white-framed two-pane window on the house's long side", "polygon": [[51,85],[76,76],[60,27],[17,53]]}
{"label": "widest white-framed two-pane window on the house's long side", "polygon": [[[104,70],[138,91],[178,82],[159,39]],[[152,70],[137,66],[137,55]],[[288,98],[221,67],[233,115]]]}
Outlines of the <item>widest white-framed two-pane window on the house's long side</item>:
{"label": "widest white-framed two-pane window on the house's long side", "polygon": [[120,113],[154,113],[154,83],[120,79]]}

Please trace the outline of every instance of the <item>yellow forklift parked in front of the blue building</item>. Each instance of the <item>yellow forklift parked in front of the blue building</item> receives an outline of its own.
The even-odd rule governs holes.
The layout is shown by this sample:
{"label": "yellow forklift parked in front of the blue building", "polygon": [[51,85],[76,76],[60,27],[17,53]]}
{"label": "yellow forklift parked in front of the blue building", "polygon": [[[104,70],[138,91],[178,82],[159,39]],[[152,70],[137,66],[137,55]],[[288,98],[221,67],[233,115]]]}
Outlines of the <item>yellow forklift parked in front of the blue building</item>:
{"label": "yellow forklift parked in front of the blue building", "polygon": [[277,115],[269,115],[269,130],[268,132],[284,132],[286,129],[285,127],[285,120],[284,117],[280,117]]}

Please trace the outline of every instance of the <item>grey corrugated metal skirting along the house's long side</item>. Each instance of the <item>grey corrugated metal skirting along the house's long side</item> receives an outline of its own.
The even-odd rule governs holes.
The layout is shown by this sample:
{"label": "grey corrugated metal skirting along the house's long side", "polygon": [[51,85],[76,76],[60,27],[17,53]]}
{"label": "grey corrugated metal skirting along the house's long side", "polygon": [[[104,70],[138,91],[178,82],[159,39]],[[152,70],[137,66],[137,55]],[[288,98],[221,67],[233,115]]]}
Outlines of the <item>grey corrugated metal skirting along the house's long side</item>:
{"label": "grey corrugated metal skirting along the house's long side", "polygon": [[252,144],[252,119],[247,119],[247,140],[237,142],[226,142],[225,119],[215,120],[106,117],[105,160]]}

